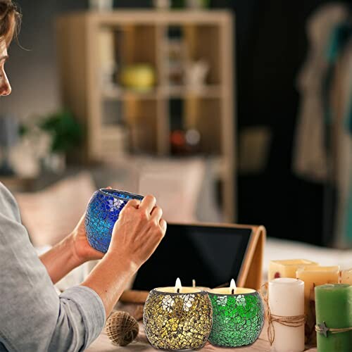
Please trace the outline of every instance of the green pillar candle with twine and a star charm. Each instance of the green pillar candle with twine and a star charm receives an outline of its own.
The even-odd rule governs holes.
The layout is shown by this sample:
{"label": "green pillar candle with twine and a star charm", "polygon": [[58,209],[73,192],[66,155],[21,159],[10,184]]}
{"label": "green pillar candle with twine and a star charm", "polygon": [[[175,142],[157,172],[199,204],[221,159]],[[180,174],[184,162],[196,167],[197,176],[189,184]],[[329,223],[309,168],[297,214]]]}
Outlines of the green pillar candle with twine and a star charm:
{"label": "green pillar candle with twine and a star charm", "polygon": [[325,284],[315,287],[315,313],[318,352],[351,352],[352,331],[332,332],[327,329],[352,327],[352,286],[348,284]]}

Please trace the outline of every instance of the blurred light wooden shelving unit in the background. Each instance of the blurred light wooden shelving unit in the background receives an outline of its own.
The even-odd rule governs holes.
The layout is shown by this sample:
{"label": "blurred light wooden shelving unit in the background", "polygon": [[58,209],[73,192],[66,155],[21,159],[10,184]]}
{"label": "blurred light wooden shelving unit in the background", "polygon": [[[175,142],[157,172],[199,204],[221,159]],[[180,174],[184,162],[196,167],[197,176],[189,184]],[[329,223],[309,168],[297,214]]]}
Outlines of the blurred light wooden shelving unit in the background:
{"label": "blurred light wooden shelving unit in the background", "polygon": [[[72,13],[57,22],[63,103],[83,122],[86,161],[133,153],[120,150],[121,135],[134,129],[144,153],[170,156],[170,101],[182,101],[184,128],[201,134],[200,153],[218,161],[223,210],[235,219],[235,118],[232,15],[227,11],[113,11]],[[187,57],[209,65],[199,88],[168,80],[168,31],[182,32]],[[156,75],[147,92],[101,84],[99,33],[111,30],[119,65],[145,63]],[[107,111],[120,111],[108,117]],[[128,139],[128,138],[127,138]]]}

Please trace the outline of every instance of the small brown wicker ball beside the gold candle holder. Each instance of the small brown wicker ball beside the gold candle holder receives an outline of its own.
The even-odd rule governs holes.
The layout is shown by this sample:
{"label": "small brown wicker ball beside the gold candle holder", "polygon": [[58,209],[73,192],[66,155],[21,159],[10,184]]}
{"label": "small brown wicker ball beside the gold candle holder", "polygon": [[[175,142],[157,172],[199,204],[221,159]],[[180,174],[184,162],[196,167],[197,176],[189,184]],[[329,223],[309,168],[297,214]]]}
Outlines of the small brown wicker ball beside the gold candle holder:
{"label": "small brown wicker ball beside the gold candle holder", "polygon": [[127,312],[115,312],[106,322],[106,334],[114,344],[127,346],[138,335],[139,325]]}

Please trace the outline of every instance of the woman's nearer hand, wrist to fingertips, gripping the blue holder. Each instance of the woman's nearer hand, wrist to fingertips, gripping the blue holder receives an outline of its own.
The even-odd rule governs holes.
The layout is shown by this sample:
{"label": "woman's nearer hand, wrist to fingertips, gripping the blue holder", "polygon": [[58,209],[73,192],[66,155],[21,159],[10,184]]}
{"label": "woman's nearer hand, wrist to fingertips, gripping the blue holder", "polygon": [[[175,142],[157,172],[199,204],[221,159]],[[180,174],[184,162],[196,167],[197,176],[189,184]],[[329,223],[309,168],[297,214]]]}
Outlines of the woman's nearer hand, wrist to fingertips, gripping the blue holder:
{"label": "woman's nearer hand, wrist to fingertips, gripping the blue holder", "polygon": [[139,268],[156,250],[166,232],[163,210],[153,196],[133,199],[122,209],[113,228],[108,255],[120,254]]}

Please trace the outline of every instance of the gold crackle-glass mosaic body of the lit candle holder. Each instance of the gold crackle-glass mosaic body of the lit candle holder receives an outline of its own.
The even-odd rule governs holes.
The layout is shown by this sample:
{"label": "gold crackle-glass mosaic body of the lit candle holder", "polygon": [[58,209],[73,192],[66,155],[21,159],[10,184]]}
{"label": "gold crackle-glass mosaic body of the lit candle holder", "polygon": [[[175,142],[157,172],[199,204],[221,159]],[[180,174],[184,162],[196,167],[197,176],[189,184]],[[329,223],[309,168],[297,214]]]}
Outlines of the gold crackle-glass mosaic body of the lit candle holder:
{"label": "gold crackle-glass mosaic body of the lit candle holder", "polygon": [[197,349],[211,331],[212,307],[208,294],[168,294],[152,290],[144,305],[146,337],[154,348]]}

